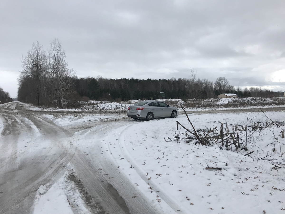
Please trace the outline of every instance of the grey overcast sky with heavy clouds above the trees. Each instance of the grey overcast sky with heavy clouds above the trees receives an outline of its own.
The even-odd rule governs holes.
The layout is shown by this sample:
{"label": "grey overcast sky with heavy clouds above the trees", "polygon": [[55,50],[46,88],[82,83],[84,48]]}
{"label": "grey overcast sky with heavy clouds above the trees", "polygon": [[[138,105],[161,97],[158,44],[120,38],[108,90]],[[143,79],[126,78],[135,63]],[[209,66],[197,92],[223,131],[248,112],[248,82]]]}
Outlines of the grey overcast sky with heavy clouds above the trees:
{"label": "grey overcast sky with heavy clouds above the trees", "polygon": [[1,0],[0,87],[59,39],[78,77],[188,78],[285,90],[285,1]]}

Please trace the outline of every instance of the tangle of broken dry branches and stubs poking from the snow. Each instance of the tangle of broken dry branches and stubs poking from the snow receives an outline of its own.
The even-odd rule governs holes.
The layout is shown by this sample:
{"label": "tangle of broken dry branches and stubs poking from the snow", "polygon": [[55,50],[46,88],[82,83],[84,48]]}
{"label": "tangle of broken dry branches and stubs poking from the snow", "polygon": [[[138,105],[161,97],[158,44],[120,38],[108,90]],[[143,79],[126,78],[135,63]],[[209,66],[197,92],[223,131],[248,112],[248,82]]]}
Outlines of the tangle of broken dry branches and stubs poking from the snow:
{"label": "tangle of broken dry branches and stubs poking from the snow", "polygon": [[[206,129],[195,129],[194,125],[190,121],[188,114],[185,111],[185,108],[182,106],[183,111],[185,112],[187,119],[192,128],[186,128],[180,122],[176,121],[178,130],[178,125],[183,128],[185,131],[180,132],[177,131],[174,134],[174,138],[165,139],[166,142],[176,141],[178,143],[186,142],[201,144],[203,146],[213,146],[215,144],[221,145],[221,147],[226,147],[228,150],[238,150],[241,148],[242,150],[248,151],[247,142],[254,142],[255,140],[260,140],[260,130],[264,128],[271,128],[272,126],[284,126],[284,123],[278,121],[272,121],[268,118],[265,113],[262,113],[269,119],[269,121],[265,122],[257,122],[253,123],[251,126],[246,125],[237,125],[237,124],[223,124],[223,122],[217,122],[221,124],[221,127],[214,126]],[[216,121],[215,121],[216,122]],[[254,132],[257,131],[257,132]],[[258,132],[259,131],[259,132]],[[259,133],[259,134],[258,134]],[[284,133],[284,132],[283,132]],[[284,136],[284,134],[283,134]],[[220,148],[221,148],[220,147]],[[222,149],[222,148],[221,148]],[[254,151],[251,151],[245,155],[252,154]]]}

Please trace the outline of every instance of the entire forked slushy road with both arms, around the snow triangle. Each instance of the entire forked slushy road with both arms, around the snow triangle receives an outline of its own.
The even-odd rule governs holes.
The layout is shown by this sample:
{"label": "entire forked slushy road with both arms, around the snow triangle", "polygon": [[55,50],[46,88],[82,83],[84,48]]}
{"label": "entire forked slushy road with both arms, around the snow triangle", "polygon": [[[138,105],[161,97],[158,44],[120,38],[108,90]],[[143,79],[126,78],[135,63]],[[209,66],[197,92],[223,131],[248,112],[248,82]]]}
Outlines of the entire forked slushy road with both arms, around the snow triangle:
{"label": "entire forked slushy road with both arms, around the snow triangle", "polygon": [[[0,213],[32,213],[40,185],[55,183],[67,169],[83,185],[92,213],[156,213],[104,154],[105,133],[133,121],[114,121],[110,116],[80,121],[79,116],[62,127],[52,122],[50,115],[27,111],[19,102],[0,108]],[[57,115],[62,118],[62,113]],[[80,210],[73,209],[74,213]]]}

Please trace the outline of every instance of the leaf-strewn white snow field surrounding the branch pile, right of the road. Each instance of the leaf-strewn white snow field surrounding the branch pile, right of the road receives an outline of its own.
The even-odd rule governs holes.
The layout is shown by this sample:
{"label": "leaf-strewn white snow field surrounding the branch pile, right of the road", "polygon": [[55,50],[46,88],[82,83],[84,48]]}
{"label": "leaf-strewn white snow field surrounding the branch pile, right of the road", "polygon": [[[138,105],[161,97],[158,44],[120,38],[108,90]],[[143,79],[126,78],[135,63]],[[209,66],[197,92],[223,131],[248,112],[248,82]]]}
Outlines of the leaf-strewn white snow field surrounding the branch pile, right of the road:
{"label": "leaf-strewn white snow field surrounding the branch pile, right of the road", "polygon": [[[284,111],[266,112],[266,115],[272,120],[285,121]],[[210,126],[220,128],[218,122],[245,126],[247,116],[246,113],[220,113],[191,114],[189,118],[196,129],[205,129]],[[48,117],[63,127],[76,121],[73,116]],[[117,128],[104,138],[107,142],[102,151],[108,151],[104,156],[114,159],[118,172],[125,173],[135,188],[164,213],[173,212],[168,209],[169,203],[177,207],[174,210],[177,213],[284,213],[285,140],[281,138],[284,126],[248,134],[248,152],[254,152],[244,156],[248,152],[235,151],[234,146],[227,151],[225,147],[219,148],[220,143],[209,147],[186,144],[184,140],[174,141],[178,132],[184,132],[180,127],[176,130],[176,120],[191,128],[185,115],[138,120]],[[268,118],[262,112],[254,112],[249,116],[248,126],[266,120]],[[231,129],[231,125],[228,126]],[[240,140],[246,141],[244,131],[240,132]],[[92,140],[85,141],[84,146],[92,143]],[[258,160],[260,158],[264,159]],[[272,164],[281,168],[275,169]],[[207,166],[222,169],[208,171]],[[56,188],[64,190],[59,185]],[[36,199],[36,203],[44,204],[40,200],[47,199]],[[66,213],[68,210],[67,206]],[[34,213],[40,212],[35,210]]]}

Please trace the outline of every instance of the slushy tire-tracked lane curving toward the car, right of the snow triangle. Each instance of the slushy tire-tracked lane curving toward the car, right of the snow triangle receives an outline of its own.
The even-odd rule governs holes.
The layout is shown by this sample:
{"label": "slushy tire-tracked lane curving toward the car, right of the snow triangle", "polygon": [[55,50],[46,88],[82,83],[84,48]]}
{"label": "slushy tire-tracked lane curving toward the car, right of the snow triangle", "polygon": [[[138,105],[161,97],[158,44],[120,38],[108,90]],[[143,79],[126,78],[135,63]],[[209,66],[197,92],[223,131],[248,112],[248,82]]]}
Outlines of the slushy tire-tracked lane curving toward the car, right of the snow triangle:
{"label": "slushy tire-tracked lane curving toward the car, right of the snow triangle", "polygon": [[[88,151],[89,156],[78,152],[78,158],[72,160],[72,165],[74,165],[75,171],[88,189],[89,195],[92,195],[95,199],[97,198],[101,206],[108,207],[106,212],[126,213],[122,209],[117,210],[118,205],[114,201],[109,188],[109,184],[111,184],[125,200],[130,213],[158,213],[154,207],[148,204],[144,195],[130,183],[124,173],[121,173],[120,169],[118,170],[117,164],[110,153],[105,151],[108,150],[106,145],[108,132],[110,130],[112,132],[114,128],[119,128],[122,125],[125,125],[125,121],[119,123],[101,122],[95,128],[81,132],[81,139],[89,140],[95,136],[96,140],[94,140]],[[82,166],[85,169],[82,169]],[[134,193],[137,193],[137,197],[133,197]]]}

